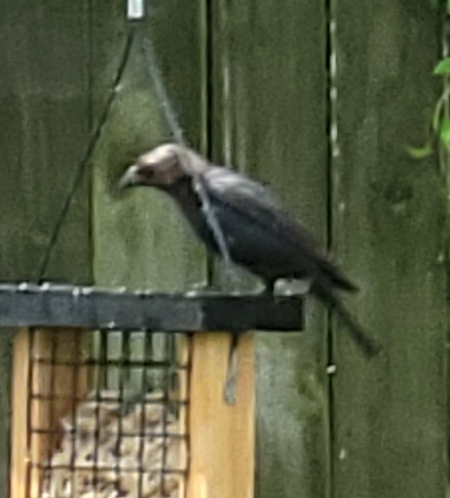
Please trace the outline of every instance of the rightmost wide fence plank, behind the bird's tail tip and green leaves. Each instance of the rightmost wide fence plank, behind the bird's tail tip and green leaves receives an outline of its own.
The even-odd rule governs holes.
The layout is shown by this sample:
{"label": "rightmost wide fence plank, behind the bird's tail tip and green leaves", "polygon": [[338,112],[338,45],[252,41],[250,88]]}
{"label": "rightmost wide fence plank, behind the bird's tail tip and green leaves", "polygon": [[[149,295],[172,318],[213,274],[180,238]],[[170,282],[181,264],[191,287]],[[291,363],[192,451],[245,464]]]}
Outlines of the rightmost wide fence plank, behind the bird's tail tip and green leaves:
{"label": "rightmost wide fence plank, behind the bird's tail tip and green leaves", "polygon": [[366,361],[337,327],[334,496],[445,496],[444,181],[410,159],[438,87],[432,2],[332,2],[337,40],[333,247],[349,306],[385,347]]}

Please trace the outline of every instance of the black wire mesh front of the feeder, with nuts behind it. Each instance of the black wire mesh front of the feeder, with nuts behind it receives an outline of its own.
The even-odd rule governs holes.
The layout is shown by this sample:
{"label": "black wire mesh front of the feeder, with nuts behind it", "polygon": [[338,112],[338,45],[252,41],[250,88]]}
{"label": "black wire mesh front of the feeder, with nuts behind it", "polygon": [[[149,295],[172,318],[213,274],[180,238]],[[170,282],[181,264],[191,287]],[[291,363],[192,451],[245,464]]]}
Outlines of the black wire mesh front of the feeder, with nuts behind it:
{"label": "black wire mesh front of the feeder, with nuts behind it", "polygon": [[30,329],[23,341],[27,498],[184,496],[186,335]]}

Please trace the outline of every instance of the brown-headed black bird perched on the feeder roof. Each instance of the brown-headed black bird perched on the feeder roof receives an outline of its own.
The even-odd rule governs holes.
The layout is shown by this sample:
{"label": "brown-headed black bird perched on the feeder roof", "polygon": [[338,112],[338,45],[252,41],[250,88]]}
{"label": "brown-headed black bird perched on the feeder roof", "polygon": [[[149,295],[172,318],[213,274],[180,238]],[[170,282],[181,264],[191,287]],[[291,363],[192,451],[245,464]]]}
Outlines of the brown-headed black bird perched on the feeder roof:
{"label": "brown-headed black bird perched on the feeder roof", "polygon": [[268,291],[279,278],[309,279],[310,292],[338,313],[363,351],[370,356],[378,350],[335,293],[357,287],[260,183],[187,147],[164,144],[142,154],[120,186],[169,194],[208,249],[261,277]]}

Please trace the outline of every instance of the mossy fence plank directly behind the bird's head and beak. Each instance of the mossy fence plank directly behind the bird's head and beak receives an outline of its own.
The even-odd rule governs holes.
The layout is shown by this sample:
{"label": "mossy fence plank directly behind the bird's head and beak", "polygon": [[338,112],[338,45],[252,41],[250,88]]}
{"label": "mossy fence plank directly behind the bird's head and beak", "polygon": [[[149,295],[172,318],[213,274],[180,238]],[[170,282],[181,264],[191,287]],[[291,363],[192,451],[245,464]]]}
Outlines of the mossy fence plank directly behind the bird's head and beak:
{"label": "mossy fence plank directly behind the bird's head and beak", "polygon": [[[126,20],[119,2],[94,2],[95,119],[123,50]],[[197,3],[155,1],[140,30],[153,45],[162,83],[188,141],[200,142],[201,71]],[[174,36],[174,30],[178,33]],[[203,252],[169,199],[149,189],[119,196],[117,181],[146,148],[173,140],[138,44],[99,142],[93,171],[95,280],[158,290],[182,290],[203,277]]]}

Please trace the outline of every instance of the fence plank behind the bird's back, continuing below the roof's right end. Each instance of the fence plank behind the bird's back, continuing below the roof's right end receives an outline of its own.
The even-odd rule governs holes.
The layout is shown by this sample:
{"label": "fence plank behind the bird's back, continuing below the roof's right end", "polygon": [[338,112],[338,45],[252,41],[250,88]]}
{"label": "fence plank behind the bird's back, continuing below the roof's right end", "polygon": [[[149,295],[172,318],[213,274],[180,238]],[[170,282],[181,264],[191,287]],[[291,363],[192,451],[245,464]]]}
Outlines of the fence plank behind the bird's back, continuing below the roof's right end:
{"label": "fence plank behind the bird's back, continuing below the roof's right end", "polygon": [[[321,2],[211,2],[215,159],[270,182],[326,238],[326,14]],[[257,494],[327,493],[325,316],[257,338]]]}

